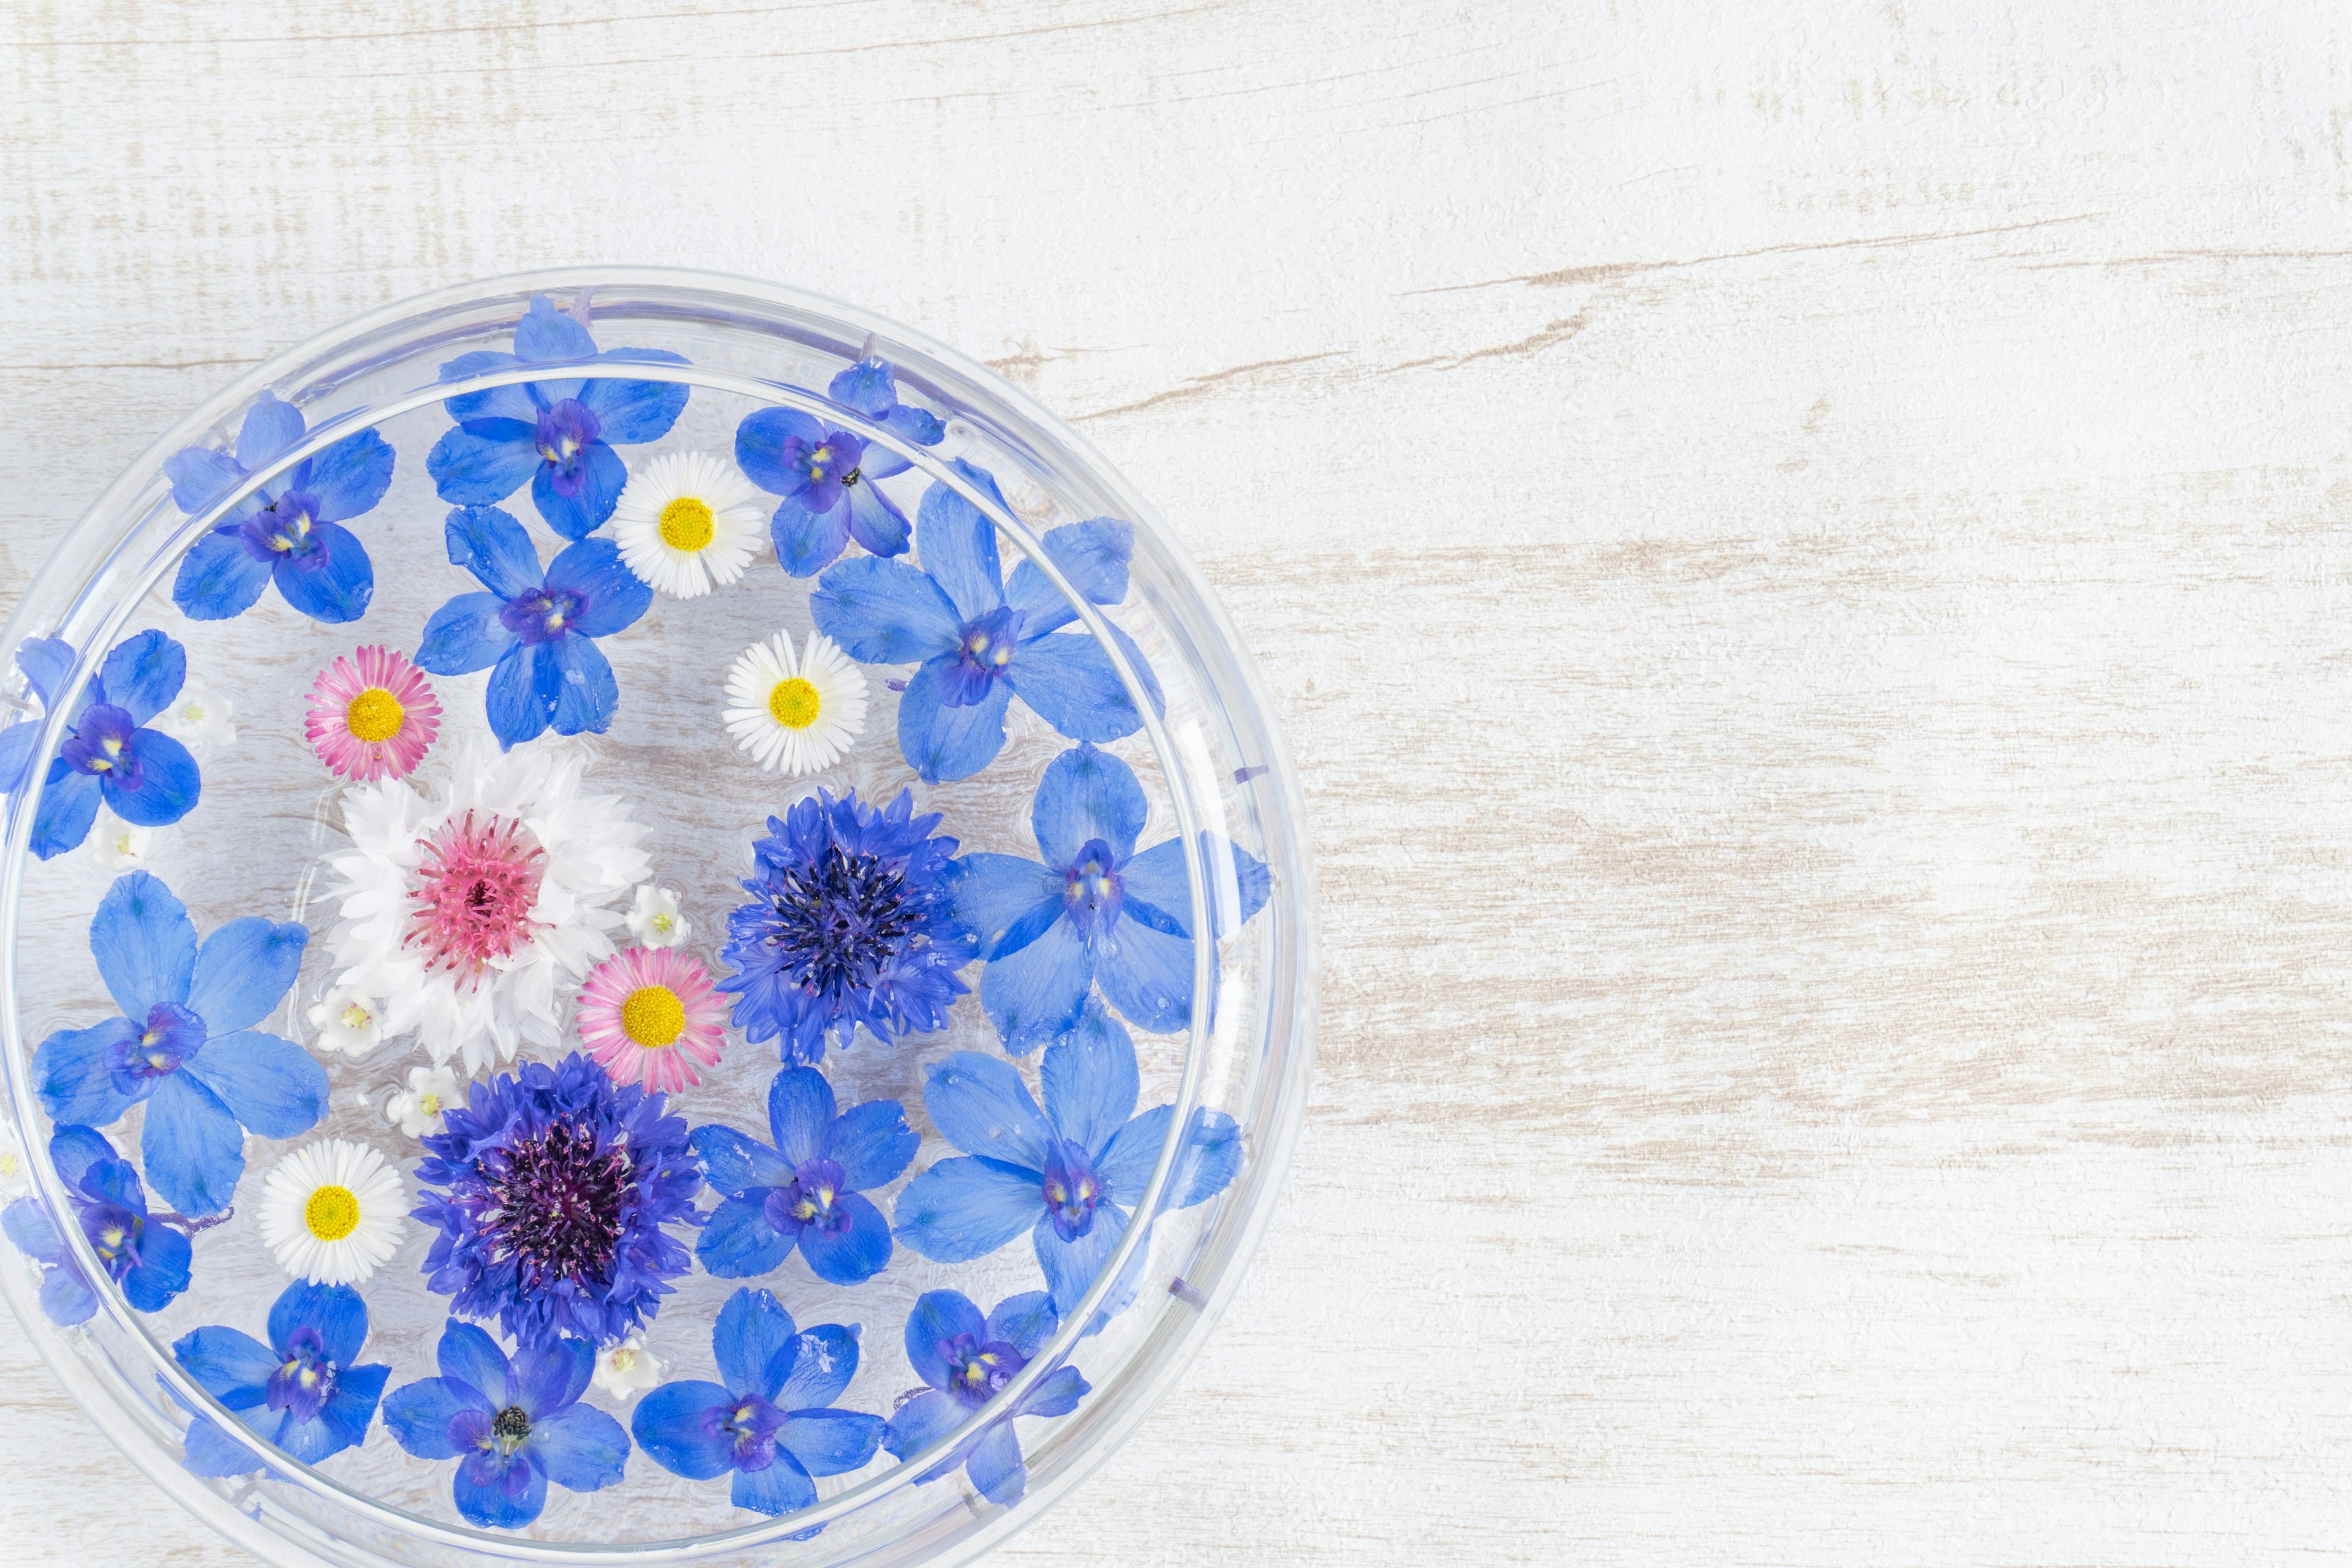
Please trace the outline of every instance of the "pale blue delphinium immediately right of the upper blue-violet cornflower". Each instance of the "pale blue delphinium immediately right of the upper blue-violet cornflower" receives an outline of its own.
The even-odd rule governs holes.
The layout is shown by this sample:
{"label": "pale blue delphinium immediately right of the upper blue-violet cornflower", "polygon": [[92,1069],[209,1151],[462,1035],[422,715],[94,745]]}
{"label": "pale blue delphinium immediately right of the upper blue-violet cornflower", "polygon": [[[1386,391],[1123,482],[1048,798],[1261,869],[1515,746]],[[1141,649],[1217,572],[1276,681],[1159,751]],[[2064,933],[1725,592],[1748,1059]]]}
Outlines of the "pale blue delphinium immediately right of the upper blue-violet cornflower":
{"label": "pale blue delphinium immediately right of the upper blue-violet cornflower", "polygon": [[[981,1006],[1023,1056],[1077,1018],[1101,983],[1129,1023],[1174,1034],[1192,1020],[1192,893],[1183,842],[1136,853],[1148,804],[1136,771],[1091,745],[1047,764],[1030,802],[1044,860],[964,856],[950,872],[955,912],[981,938]],[[1202,835],[1218,870],[1232,860],[1232,910],[1247,922],[1265,907],[1265,865],[1240,844]],[[1221,898],[1218,898],[1221,903]],[[1211,964],[1216,954],[1211,952]],[[1214,994],[1214,992],[1211,992]]]}

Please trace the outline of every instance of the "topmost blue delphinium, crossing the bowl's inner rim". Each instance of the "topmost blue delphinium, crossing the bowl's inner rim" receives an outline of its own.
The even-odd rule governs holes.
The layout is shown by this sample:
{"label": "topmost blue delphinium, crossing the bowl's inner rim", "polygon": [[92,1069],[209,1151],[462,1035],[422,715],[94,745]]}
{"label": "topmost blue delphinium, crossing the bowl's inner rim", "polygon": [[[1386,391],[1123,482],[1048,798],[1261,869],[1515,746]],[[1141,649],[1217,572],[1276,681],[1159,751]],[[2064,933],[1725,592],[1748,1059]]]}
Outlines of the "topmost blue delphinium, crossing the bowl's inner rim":
{"label": "topmost blue delphinium, crossing the bowl's inner rim", "polygon": [[[461,381],[510,364],[600,360],[612,364],[684,364],[666,348],[607,348],[581,322],[562,315],[546,294],[515,322],[515,353],[475,350],[442,364],[442,381]],[[628,465],[614,442],[659,442],[687,407],[687,388],[670,381],[562,376],[461,393],[442,402],[456,430],[435,442],[426,473],[442,501],[489,505],[524,480],[532,505],[564,538],[586,538],[612,517]]]}

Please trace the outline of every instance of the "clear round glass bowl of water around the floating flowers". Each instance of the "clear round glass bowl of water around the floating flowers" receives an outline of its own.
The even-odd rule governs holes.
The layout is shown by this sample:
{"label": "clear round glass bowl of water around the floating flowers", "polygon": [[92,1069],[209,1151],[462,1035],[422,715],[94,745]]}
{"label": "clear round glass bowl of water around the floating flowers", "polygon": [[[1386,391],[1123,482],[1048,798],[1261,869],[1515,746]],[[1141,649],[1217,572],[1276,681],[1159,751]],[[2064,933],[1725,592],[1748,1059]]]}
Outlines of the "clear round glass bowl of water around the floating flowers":
{"label": "clear round glass bowl of water around the floating flowers", "polygon": [[[821,1479],[814,1507],[779,1519],[734,1509],[724,1479],[682,1481],[640,1450],[628,1458],[616,1486],[550,1490],[548,1509],[529,1528],[480,1530],[452,1507],[452,1467],[409,1458],[381,1420],[362,1446],[318,1467],[299,1465],[221,1420],[256,1460],[268,1455],[270,1469],[202,1479],[183,1467],[188,1410],[223,1413],[174,1361],[172,1342],[205,1324],[259,1335],[268,1302],[287,1279],[259,1234],[259,1187],[268,1168],[287,1150],[334,1135],[388,1154],[409,1173],[414,1197],[419,1145],[386,1119],[386,1103],[407,1070],[426,1060],[409,1039],[383,1041],[358,1058],[318,1051],[332,1081],[325,1119],[289,1140],[247,1133],[247,1166],[230,1218],[193,1237],[193,1284],[160,1312],[136,1312],[115,1286],[101,1284],[94,1316],[59,1328],[40,1307],[40,1269],[5,1248],[0,1291],[75,1401],[141,1472],[223,1535],[275,1563],[964,1561],[1002,1542],[1098,1465],[1200,1349],[1272,1208],[1305,1112],[1312,1058],[1315,900],[1282,738],[1240,639],[1195,567],[1157,524],[1152,508],[1068,425],[938,343],[774,284],[682,270],[572,268],[428,294],[278,355],[193,411],[115,480],[42,567],[0,635],[0,670],[7,672],[0,701],[21,715],[19,724],[40,724],[28,773],[28,780],[40,780],[66,738],[66,703],[94,675],[106,649],[143,628],[160,628],[186,646],[191,684],[233,703],[238,738],[200,757],[200,804],[179,825],[158,830],[146,867],[188,903],[200,931],[242,914],[308,926],[313,940],[301,973],[261,1027],[310,1046],[318,1030],[306,1013],[334,969],[325,940],[334,907],[320,896],[327,882],[322,860],[341,846],[339,802],[348,785],[334,780],[303,743],[306,693],[320,670],[360,644],[416,651],[426,618],[452,595],[475,588],[447,559],[442,517],[449,503],[435,496],[426,473],[426,451],[452,425],[442,400],[454,390],[546,381],[550,374],[546,367],[494,369],[452,383],[442,378],[442,367],[468,350],[508,348],[536,294],[586,320],[600,348],[659,348],[684,357],[687,364],[630,367],[630,378],[691,388],[668,435],[623,449],[633,470],[663,451],[731,451],[736,423],[757,407],[821,414],[835,428],[889,444],[887,430],[826,400],[826,388],[844,367],[863,357],[889,362],[898,397],[946,425],[938,444],[896,442],[913,468],[884,489],[906,515],[917,515],[917,498],[934,482],[957,489],[995,522],[1007,567],[1030,559],[1047,571],[1075,607],[1075,625],[1110,649],[1131,701],[1141,691],[1131,654],[1141,654],[1164,693],[1164,710],[1150,712],[1141,733],[1105,750],[1134,766],[1148,795],[1141,844],[1171,837],[1185,844],[1190,929],[1216,922],[1223,936],[1214,945],[1214,980],[1209,945],[1195,947],[1195,997],[1214,994],[1214,1018],[1211,1009],[1195,1006],[1190,1032],[1134,1032],[1143,1086],[1138,1110],[1171,1103],[1171,1128],[1188,1126],[1197,1107],[1230,1114],[1240,1126],[1237,1175],[1204,1204],[1171,1208],[1150,1227],[1131,1225],[1080,1309],[1065,1314],[1025,1373],[955,1434],[903,1465],[880,1453],[863,1469]],[[278,592],[263,592],[254,609],[226,621],[191,621],[174,607],[181,557],[226,515],[233,496],[198,515],[183,512],[172,501],[165,461],[191,447],[233,449],[240,421],[263,393],[299,407],[310,428],[301,447],[278,458],[278,470],[362,428],[379,430],[397,451],[386,498],[350,524],[367,543],[376,576],[374,602],[358,623],[310,621]],[[955,458],[995,475],[1007,505],[995,508],[960,482],[960,470],[948,468]],[[256,470],[256,482],[263,477]],[[774,501],[764,496],[762,505]],[[534,517],[527,494],[503,505],[529,527],[541,555],[562,543]],[[1129,590],[1120,604],[1096,607],[1073,597],[1073,585],[1040,548],[1044,531],[1094,517],[1134,524]],[[858,548],[847,555],[856,557]],[[894,731],[898,698],[884,684],[908,670],[866,668],[870,712],[851,752],[809,778],[762,773],[720,726],[722,672],[741,649],[776,630],[802,642],[811,625],[809,588],[814,581],[786,576],[762,550],[731,588],[701,599],[656,597],[637,625],[602,644],[621,689],[609,729],[529,743],[579,752],[590,788],[628,797],[637,820],[652,830],[652,882],[684,893],[684,912],[696,924],[689,950],[703,961],[715,954],[727,907],[741,900],[736,879],[750,865],[748,844],[762,820],[816,785],[835,795],[856,788],[877,804],[913,785],[917,811],[943,813],[938,830],[957,837],[962,851],[1035,856],[1033,790],[1044,766],[1073,745],[1035,712],[1014,705],[1009,741],[995,762],[971,778],[924,785],[901,755]],[[1131,637],[1127,654],[1103,637],[1105,621]],[[82,651],[64,691],[49,693],[49,710],[14,661],[28,637],[56,637]],[[482,675],[435,684],[445,736],[419,769],[416,785],[430,785],[435,766],[447,766],[459,731],[482,726]],[[118,1011],[89,957],[89,922],[120,867],[103,865],[94,844],[38,860],[28,851],[38,797],[35,783],[9,797],[0,860],[0,985],[7,987],[7,1006],[0,1009],[7,1030],[0,1173],[14,1168],[14,1194],[28,1194],[26,1201],[54,1215],[71,1215],[47,1159],[49,1121],[28,1065],[52,1032],[87,1027]],[[101,818],[94,837],[103,832]],[[1221,853],[1202,853],[1202,844],[1218,837],[1268,867],[1270,896],[1247,922],[1235,919],[1232,865]],[[1225,917],[1218,922],[1221,910]],[[964,978],[974,992],[957,999],[946,1030],[894,1044],[858,1037],[851,1048],[835,1048],[823,1060],[844,1107],[898,1100],[922,1135],[913,1166],[870,1194],[884,1211],[920,1171],[957,1154],[924,1114],[924,1065],[950,1051],[1007,1060],[981,1009],[981,969],[969,966]],[[550,1060],[553,1053],[524,1046],[522,1060],[532,1058]],[[1040,1053],[1009,1060],[1035,1091]],[[694,1124],[724,1119],[760,1131],[776,1067],[774,1044],[746,1044],[729,1030],[724,1060],[703,1084],[673,1095],[673,1107]],[[134,1157],[139,1114],[134,1110],[108,1128],[125,1157]],[[1167,1187],[1174,1175],[1171,1131],[1152,1190]],[[1134,1197],[1150,1206],[1152,1194]],[[82,1272],[103,1281],[80,1229],[71,1222],[61,1229]],[[426,1288],[419,1269],[426,1239],[421,1225],[409,1225],[393,1260],[362,1286],[372,1335],[360,1359],[390,1363],[393,1389],[433,1375],[433,1345],[449,1307],[445,1295]],[[691,1244],[691,1234],[684,1239]],[[1131,1253],[1141,1255],[1138,1265],[1129,1265]],[[985,1312],[1007,1295],[1035,1291],[1040,1265],[1025,1244],[964,1265],[931,1262],[901,1244],[889,1267],[861,1286],[821,1284],[800,1258],[786,1258],[781,1269],[750,1281],[713,1279],[696,1267],[673,1284],[677,1293],[661,1305],[647,1333],[647,1349],[670,1378],[713,1375],[713,1316],[729,1293],[753,1284],[776,1291],[802,1326],[858,1324],[858,1373],[835,1403],[889,1415],[896,1401],[922,1387],[901,1349],[913,1300],[924,1291],[957,1288]],[[1108,1316],[1098,1333],[1082,1335],[1094,1309],[1117,1305],[1129,1284],[1136,1284],[1134,1305]],[[1018,1418],[1028,1465],[1018,1502],[1000,1507],[983,1500],[962,1472],[917,1483],[960,1439],[1002,1418],[1061,1361],[1077,1366],[1091,1392],[1068,1415]],[[602,1392],[588,1401],[628,1422],[628,1401]]]}

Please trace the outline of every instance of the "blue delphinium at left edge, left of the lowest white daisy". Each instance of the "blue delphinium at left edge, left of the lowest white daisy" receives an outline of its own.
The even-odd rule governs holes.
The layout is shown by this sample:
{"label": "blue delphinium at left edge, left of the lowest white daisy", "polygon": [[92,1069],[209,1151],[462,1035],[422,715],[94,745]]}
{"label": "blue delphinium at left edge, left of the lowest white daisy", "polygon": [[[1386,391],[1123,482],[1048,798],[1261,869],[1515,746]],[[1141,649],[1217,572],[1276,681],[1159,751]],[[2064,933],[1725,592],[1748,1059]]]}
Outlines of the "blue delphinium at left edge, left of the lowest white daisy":
{"label": "blue delphinium at left edge, left of the lowest white daisy", "polygon": [[[61,1126],[49,1135],[49,1164],[66,1185],[66,1201],[89,1251],[106,1265],[106,1276],[122,1286],[122,1300],[139,1312],[162,1312],[188,1288],[188,1237],[172,1229],[179,1215],[148,1213],[139,1173],[106,1138],[87,1126]],[[40,1309],[49,1321],[68,1328],[87,1324],[99,1309],[99,1295],[66,1251],[47,1206],[40,1199],[16,1199],[0,1211],[0,1225],[16,1251],[42,1267]]]}

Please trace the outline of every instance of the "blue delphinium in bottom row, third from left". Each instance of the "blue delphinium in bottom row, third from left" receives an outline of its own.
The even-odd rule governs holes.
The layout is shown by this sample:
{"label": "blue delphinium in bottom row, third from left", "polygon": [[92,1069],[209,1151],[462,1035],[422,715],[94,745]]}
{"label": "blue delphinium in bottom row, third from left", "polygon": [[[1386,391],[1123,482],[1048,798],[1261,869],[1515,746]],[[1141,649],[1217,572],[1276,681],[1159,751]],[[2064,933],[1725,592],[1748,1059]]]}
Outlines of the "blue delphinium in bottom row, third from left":
{"label": "blue delphinium in bottom row, third from left", "polygon": [[854,1326],[793,1333],[793,1314],[746,1286],[720,1307],[710,1354],[724,1382],[663,1382],[628,1422],[670,1474],[731,1469],[739,1509],[790,1514],[816,1502],[811,1476],[847,1474],[882,1448],[880,1415],[830,1408],[858,1371]]}

